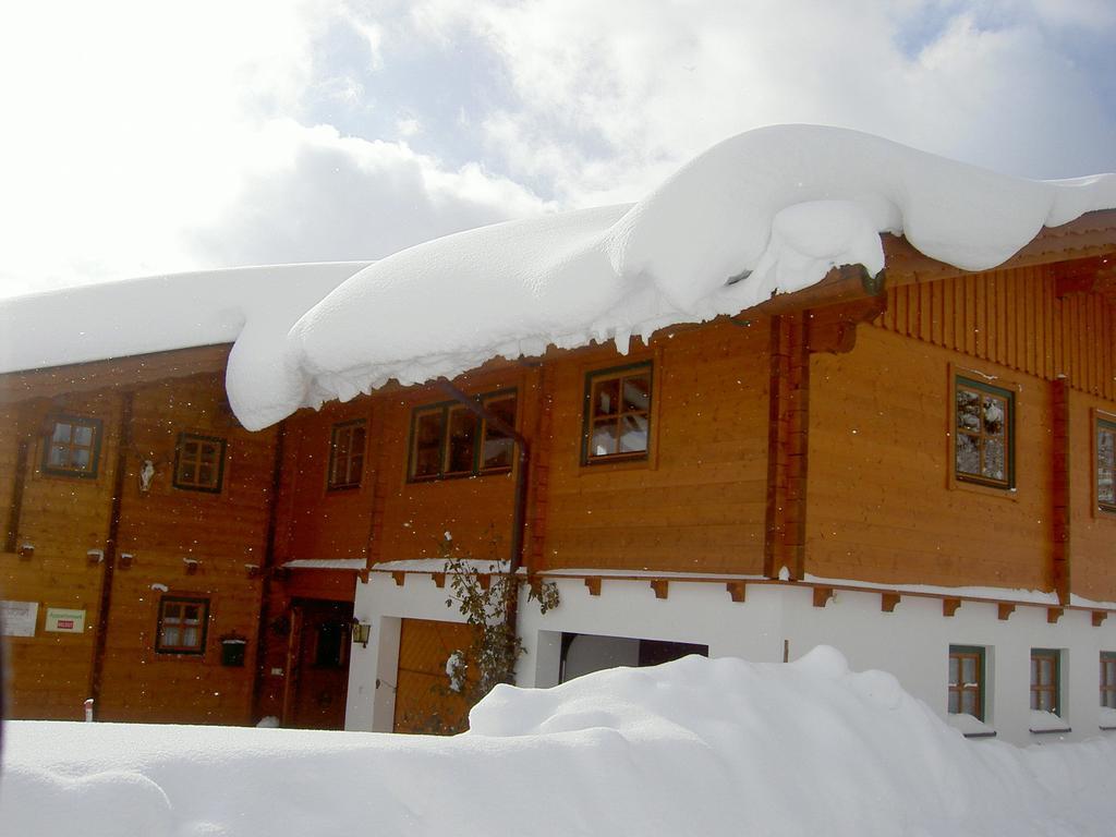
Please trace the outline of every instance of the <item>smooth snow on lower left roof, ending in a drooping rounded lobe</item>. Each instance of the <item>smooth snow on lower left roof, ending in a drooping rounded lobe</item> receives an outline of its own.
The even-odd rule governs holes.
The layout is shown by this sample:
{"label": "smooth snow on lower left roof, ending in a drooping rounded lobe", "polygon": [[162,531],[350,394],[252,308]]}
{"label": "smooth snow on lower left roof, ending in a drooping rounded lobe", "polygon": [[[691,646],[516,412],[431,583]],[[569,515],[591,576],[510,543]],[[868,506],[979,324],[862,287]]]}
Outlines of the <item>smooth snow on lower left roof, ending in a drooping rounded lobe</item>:
{"label": "smooth snow on lower left roof, ending in a drooping rounded lobe", "polygon": [[291,325],[367,264],[174,273],[0,300],[0,373],[234,343],[229,401],[266,426],[304,397],[283,354]]}

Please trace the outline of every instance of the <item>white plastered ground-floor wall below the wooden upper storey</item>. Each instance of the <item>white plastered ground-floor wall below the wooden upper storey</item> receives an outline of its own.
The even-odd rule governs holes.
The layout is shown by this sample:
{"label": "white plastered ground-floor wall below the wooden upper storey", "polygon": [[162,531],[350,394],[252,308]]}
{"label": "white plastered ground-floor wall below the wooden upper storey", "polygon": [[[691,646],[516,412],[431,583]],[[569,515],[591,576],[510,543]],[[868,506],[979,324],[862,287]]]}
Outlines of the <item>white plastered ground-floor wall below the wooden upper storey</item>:
{"label": "white plastered ground-floor wall below the wooden upper storey", "polygon": [[[1045,607],[1020,605],[1002,620],[994,604],[964,603],[945,617],[941,599],[906,596],[885,613],[879,594],[843,590],[820,608],[810,588],[782,585],[749,585],[745,600],[734,603],[723,584],[713,583],[673,581],[665,599],[656,598],[647,581],[605,578],[599,596],[581,579],[557,584],[561,604],[546,615],[526,594],[520,603],[527,651],[517,672],[521,686],[557,683],[564,632],[698,643],[708,645],[711,656],[752,662],[780,662],[785,648],[795,660],[827,644],[855,671],[891,672],[944,718],[949,646],[977,645],[987,648],[985,720],[1000,740],[1023,744],[1101,734],[1098,656],[1116,650],[1116,620],[1094,627],[1088,612],[1067,610],[1049,624]],[[400,619],[460,622],[445,599],[445,590],[426,575],[408,575],[401,587],[391,576],[373,574],[367,585],[357,585],[356,616],[372,620],[373,637],[367,650],[354,651],[348,729],[391,730]],[[1062,714],[1071,732],[1029,732],[1032,647],[1062,650]]]}

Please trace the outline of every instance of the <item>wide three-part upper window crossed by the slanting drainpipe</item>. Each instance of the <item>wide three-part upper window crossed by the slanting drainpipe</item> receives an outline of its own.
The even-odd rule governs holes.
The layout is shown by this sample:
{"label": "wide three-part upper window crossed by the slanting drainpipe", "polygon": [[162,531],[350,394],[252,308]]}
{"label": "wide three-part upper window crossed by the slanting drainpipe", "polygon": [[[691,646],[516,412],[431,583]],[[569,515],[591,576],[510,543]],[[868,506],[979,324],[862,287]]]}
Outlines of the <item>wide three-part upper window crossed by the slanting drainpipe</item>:
{"label": "wide three-part upper window crossed by the slanting drainpipe", "polygon": [[[516,426],[516,393],[480,396],[480,403],[508,427]],[[413,480],[506,473],[511,470],[516,441],[497,424],[469,407],[445,402],[419,407],[411,420]]]}

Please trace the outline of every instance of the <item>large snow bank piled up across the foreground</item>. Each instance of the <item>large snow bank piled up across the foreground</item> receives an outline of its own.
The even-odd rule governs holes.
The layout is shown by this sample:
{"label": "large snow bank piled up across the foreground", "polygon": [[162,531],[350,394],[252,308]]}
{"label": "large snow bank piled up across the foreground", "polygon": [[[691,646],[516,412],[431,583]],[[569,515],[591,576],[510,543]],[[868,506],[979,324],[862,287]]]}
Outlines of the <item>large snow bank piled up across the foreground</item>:
{"label": "large snow bank piled up across the foreground", "polygon": [[453,739],[17,722],[4,833],[1098,835],[1116,741],[966,741],[831,648],[500,687]]}

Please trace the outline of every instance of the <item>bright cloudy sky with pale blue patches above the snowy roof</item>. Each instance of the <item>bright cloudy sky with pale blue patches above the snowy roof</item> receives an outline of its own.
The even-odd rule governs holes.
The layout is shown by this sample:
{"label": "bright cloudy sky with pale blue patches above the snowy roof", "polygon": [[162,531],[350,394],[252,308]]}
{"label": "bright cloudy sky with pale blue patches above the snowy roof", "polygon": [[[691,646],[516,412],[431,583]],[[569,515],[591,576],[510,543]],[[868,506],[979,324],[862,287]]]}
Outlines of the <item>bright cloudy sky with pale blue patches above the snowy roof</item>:
{"label": "bright cloudy sky with pale blue patches above the snowy roof", "polygon": [[3,3],[0,296],[374,259],[776,123],[1116,171],[1113,44],[1112,0]]}

